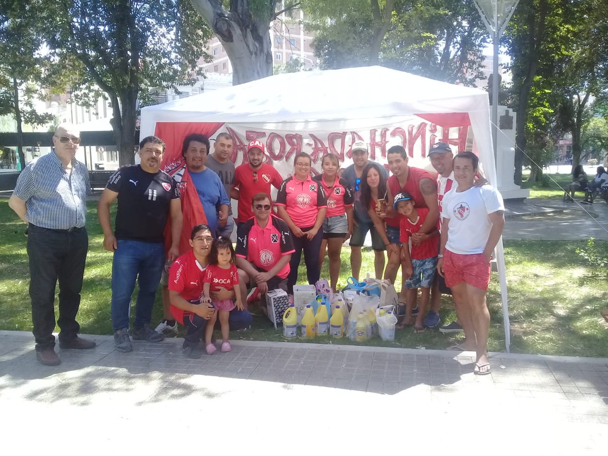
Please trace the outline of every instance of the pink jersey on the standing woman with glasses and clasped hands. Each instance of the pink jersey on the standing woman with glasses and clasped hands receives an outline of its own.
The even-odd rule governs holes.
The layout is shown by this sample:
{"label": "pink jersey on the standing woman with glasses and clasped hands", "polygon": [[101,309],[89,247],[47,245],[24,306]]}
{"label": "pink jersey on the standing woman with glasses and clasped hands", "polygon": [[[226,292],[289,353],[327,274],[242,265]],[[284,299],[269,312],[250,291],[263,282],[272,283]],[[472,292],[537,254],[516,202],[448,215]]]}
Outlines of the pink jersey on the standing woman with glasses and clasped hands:
{"label": "pink jersey on the standing woman with glasses and clasped hands", "polygon": [[323,186],[310,175],[305,181],[285,179],[277,193],[277,206],[285,206],[291,221],[300,228],[314,226],[319,209],[327,207]]}

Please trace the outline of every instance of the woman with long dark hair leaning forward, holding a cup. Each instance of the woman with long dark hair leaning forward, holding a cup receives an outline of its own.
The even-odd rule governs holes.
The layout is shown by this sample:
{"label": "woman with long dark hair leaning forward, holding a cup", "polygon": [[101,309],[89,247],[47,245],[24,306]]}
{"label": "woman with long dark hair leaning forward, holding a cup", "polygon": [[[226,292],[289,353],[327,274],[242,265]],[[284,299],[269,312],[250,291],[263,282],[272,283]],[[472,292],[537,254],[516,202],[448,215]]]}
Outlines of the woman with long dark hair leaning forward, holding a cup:
{"label": "woman with long dark hair leaning forward, holding a cup", "polygon": [[[370,215],[371,220],[374,223],[376,232],[378,232],[378,235],[386,246],[390,265],[399,264],[401,258],[401,246],[390,242],[386,233],[384,220],[382,220],[378,216],[378,213],[376,213],[378,200],[384,200],[387,195],[386,181],[387,179],[384,177],[384,173],[382,173],[380,165],[377,163],[370,163],[363,168],[363,172],[361,173],[361,205],[367,209],[367,213]],[[386,204],[386,201],[384,201],[384,204]]]}

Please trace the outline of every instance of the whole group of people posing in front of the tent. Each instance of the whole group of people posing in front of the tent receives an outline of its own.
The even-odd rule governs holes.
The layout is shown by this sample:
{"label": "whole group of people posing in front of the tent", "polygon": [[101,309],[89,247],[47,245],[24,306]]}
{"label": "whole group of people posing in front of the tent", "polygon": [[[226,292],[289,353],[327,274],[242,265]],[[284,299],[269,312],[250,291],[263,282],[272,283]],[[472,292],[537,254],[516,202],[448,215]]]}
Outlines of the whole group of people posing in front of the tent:
{"label": "whole group of people posing in front of the tent", "polygon": [[[77,335],[75,320],[88,248],[88,172],[75,159],[80,137],[73,126],[59,125],[53,142],[54,153],[27,165],[9,201],[28,224],[36,356],[49,365],[60,362],[52,334],[57,282],[60,347],[95,346]],[[132,340],[159,342],[176,333],[181,323],[187,356],[201,356],[201,340],[207,353],[216,351],[216,324],[221,328],[221,350],[229,351],[229,330],[247,328],[252,321],[246,305],[249,289],[265,293],[281,288],[291,293],[303,251],[311,284],[320,278],[326,252],[335,290],[342,244],[350,239],[352,275],[359,278],[361,248],[371,232],[376,277],[394,283],[399,268],[402,271],[400,300],[406,312],[401,325],[413,322],[414,330],[422,332],[439,324],[440,277],[445,277],[458,322],[441,329],[463,330],[465,342],[458,348],[477,351],[475,371],[489,373],[485,293],[489,259],[504,218],[502,199],[484,185],[474,154],[454,157],[447,143],[432,145],[429,157],[438,173],[435,178],[410,167],[406,150],[394,146],[387,152],[389,177],[385,167],[370,161],[367,145],[356,142],[351,148],[353,164],[344,170],[330,153],[322,157],[322,174],[312,176],[311,157],[301,152],[294,156],[294,172],[283,179],[264,161],[260,140],[247,145],[247,161],[236,168],[229,159],[232,149],[229,134],[218,134],[213,153],[206,136],[190,134],[184,138],[182,160],[161,167],[165,143],[149,136],[140,143],[140,164],[122,167],[109,178],[97,210],[104,247],[114,252],[111,316],[117,350],[133,350]],[[271,186],[278,190],[274,202]],[[236,218],[230,199],[238,201]],[[230,236],[235,225],[233,248]],[[159,283],[164,319],[153,328]],[[418,288],[422,298],[416,305]]]}

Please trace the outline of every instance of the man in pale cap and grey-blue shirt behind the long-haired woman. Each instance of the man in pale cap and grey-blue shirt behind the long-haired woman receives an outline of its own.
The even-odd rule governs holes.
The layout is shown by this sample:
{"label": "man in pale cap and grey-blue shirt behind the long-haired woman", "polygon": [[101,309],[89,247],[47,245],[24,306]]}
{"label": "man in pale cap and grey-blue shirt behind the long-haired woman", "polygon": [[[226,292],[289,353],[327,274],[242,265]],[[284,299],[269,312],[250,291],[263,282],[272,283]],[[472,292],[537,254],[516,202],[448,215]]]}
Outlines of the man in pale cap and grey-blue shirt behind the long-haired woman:
{"label": "man in pale cap and grey-blue shirt behind the long-haired woman", "polygon": [[[350,237],[350,268],[353,271],[353,277],[359,280],[359,272],[361,271],[361,247],[365,242],[367,232],[371,232],[371,248],[374,250],[374,269],[376,277],[381,278],[384,273],[384,242],[376,232],[373,221],[365,209],[361,205],[361,174],[363,168],[370,162],[370,154],[367,151],[367,144],[363,141],[357,141],[351,148],[353,154],[353,164],[344,170],[342,178],[345,179],[350,187],[354,188],[354,230]],[[389,177],[389,173],[384,167],[385,178]]]}

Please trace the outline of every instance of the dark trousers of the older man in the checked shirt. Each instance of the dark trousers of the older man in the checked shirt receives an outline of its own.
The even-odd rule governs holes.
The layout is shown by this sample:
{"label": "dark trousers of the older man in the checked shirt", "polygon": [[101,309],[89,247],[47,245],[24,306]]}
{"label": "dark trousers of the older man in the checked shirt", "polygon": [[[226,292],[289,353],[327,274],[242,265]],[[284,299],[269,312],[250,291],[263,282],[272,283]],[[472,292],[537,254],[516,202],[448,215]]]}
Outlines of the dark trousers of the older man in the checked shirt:
{"label": "dark trousers of the older man in the checked shirt", "polygon": [[85,228],[70,232],[48,230],[30,224],[27,255],[30,263],[30,298],[36,350],[55,347],[55,286],[59,282],[61,340],[73,339],[80,331],[76,314],[85,274],[89,238]]}

